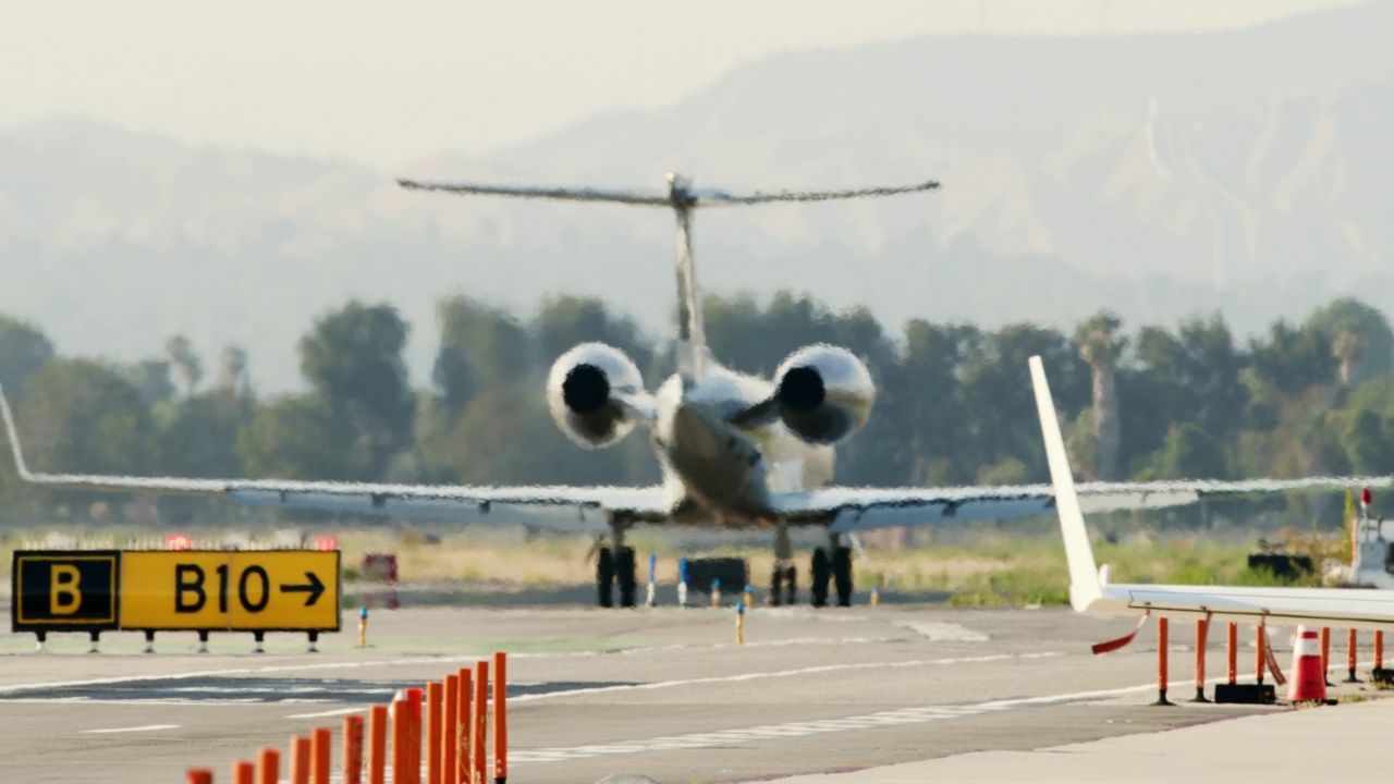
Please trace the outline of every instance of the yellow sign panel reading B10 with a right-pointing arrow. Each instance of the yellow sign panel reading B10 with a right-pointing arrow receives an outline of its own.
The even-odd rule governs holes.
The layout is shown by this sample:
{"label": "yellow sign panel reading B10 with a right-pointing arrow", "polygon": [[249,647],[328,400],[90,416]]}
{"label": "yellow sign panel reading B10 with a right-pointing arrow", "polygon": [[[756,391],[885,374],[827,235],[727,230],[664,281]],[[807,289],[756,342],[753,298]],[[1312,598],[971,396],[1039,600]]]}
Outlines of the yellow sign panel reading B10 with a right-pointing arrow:
{"label": "yellow sign panel reading B10 with a right-pointing arrow", "polygon": [[337,632],[339,552],[124,552],[123,629]]}

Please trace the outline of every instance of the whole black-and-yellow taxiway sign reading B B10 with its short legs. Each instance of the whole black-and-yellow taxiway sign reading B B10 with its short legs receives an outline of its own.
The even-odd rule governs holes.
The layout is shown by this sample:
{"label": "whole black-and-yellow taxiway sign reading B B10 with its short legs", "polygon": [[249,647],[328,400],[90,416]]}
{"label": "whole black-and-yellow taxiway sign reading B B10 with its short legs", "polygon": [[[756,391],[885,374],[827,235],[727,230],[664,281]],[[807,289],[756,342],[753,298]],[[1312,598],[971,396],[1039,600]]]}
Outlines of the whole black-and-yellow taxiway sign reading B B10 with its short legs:
{"label": "whole black-and-yellow taxiway sign reading B B10 with its short legs", "polygon": [[316,650],[339,631],[339,551],[318,550],[17,550],[11,564],[11,631],[38,636],[86,632],[96,650],[106,631],[190,631],[208,650],[212,632],[300,632]]}

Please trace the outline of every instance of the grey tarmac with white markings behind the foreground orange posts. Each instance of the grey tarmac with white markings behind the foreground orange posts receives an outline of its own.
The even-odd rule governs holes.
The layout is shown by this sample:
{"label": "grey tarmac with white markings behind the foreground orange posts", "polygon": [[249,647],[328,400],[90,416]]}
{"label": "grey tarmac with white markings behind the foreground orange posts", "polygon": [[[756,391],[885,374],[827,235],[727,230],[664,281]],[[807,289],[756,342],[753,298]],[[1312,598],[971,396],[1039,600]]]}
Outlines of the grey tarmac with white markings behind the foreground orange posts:
{"label": "grey tarmac with white markings behind the foreground orange posts", "polygon": [[[1284,709],[1156,709],[1150,628],[1093,657],[1128,619],[1068,608],[756,608],[744,644],[730,610],[432,608],[375,612],[368,649],[344,632],[304,653],[294,635],[191,633],[50,642],[0,635],[6,780],[226,780],[234,759],[284,748],[491,650],[509,663],[512,781],[749,781],[970,752],[1020,752]],[[1207,665],[1223,675],[1211,639]],[[1280,644],[1285,638],[1280,636]],[[1172,699],[1193,695],[1190,643],[1172,638]],[[1252,660],[1246,651],[1243,665]],[[1333,709],[1340,710],[1340,709]],[[11,778],[13,777],[13,778]]]}

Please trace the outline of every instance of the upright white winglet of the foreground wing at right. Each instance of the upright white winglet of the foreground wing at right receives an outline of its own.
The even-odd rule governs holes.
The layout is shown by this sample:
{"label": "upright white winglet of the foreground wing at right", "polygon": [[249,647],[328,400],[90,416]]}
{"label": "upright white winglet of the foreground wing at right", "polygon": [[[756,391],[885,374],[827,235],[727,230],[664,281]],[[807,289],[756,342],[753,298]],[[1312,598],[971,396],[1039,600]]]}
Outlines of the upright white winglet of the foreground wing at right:
{"label": "upright white winglet of the foreground wing at right", "polygon": [[1079,511],[1075,477],[1069,469],[1069,455],[1065,453],[1065,438],[1055,417],[1055,402],[1046,381],[1046,368],[1040,357],[1032,357],[1030,367],[1032,386],[1036,389],[1036,412],[1040,414],[1041,437],[1046,439],[1046,460],[1050,463],[1051,484],[1055,485],[1055,512],[1059,515],[1065,558],[1069,561],[1069,603],[1076,611],[1083,612],[1094,600],[1103,597],[1098,569],[1094,566],[1089,530],[1085,529],[1085,515]]}

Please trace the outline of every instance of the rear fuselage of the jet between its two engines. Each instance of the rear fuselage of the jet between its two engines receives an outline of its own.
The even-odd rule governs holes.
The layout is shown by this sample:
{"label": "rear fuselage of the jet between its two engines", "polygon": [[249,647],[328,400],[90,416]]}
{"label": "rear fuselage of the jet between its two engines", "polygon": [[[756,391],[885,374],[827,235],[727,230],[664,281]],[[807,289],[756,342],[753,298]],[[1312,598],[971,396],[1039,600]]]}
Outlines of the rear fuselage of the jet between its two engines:
{"label": "rear fuselage of the jet between its two engines", "polygon": [[652,444],[675,518],[708,525],[769,522],[772,491],[832,480],[831,446],[809,444],[778,420],[758,427],[732,423],[769,398],[771,382],[707,363],[700,381],[675,374],[654,395]]}

